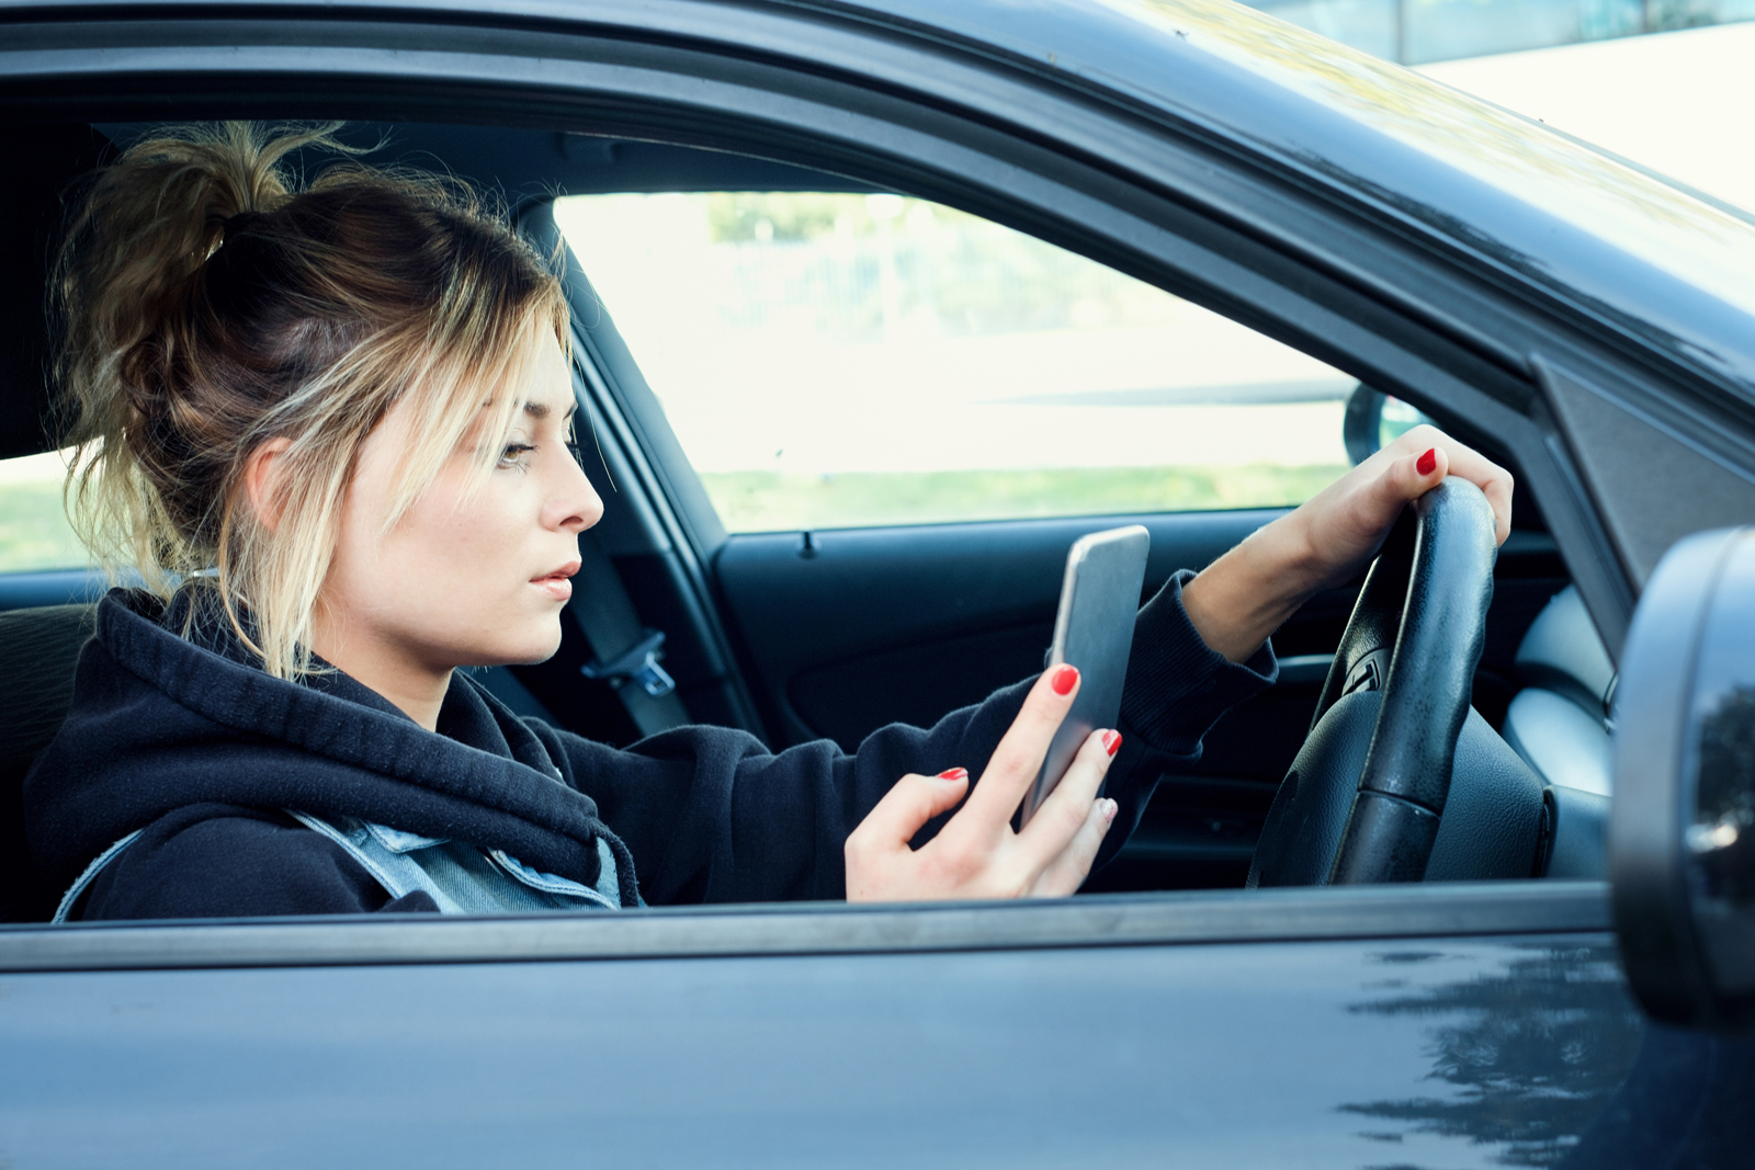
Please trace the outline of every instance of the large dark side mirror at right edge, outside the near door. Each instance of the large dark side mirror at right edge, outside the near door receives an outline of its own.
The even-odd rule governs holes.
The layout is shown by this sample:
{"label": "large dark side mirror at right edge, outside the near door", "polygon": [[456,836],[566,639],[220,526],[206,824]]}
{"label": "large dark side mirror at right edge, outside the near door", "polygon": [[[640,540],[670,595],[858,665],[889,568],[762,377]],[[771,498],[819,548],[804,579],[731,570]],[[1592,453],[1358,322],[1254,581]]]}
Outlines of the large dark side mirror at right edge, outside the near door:
{"label": "large dark side mirror at right edge, outside the near door", "polygon": [[1646,1012],[1755,1024],[1755,528],[1680,540],[1634,612],[1615,696],[1609,882]]}

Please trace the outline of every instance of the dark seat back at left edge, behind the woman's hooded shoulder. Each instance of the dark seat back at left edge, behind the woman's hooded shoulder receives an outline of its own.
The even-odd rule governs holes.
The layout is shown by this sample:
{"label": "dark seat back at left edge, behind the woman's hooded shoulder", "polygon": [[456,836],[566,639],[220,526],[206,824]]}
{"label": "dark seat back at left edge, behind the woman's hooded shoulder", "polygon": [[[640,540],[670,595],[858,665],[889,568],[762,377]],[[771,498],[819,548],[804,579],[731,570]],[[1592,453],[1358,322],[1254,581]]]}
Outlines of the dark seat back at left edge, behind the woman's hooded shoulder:
{"label": "dark seat back at left edge, behind the woman's hooded shoulder", "polygon": [[0,923],[47,921],[61,896],[42,884],[25,844],[25,774],[67,719],[95,614],[95,605],[0,614]]}

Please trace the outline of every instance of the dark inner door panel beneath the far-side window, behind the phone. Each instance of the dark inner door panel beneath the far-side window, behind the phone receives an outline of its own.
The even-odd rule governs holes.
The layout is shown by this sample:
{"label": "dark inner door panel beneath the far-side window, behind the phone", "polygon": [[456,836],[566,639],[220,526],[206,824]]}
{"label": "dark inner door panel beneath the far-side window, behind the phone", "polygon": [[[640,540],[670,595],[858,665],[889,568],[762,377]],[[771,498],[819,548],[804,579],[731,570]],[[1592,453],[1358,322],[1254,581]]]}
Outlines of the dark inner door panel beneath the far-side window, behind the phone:
{"label": "dark inner door panel beneath the far-side window, behind the phone", "polygon": [[[714,560],[725,607],[793,742],[851,747],[885,723],[934,723],[1042,668],[1067,547],[1151,530],[1148,595],[1279,512],[1034,519],[739,535]],[[920,691],[916,691],[920,688]]]}

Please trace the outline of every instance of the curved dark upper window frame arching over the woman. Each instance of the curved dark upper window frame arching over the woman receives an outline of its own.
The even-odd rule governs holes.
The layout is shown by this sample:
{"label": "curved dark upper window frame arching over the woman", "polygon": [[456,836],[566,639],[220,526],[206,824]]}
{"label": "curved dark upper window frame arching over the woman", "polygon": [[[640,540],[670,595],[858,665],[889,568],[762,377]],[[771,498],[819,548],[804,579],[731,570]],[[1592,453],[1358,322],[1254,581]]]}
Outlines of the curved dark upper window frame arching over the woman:
{"label": "curved dark upper window frame arching over the woman", "polygon": [[[219,12],[233,19],[212,23]],[[519,23],[416,14],[384,0],[374,19],[356,21],[225,4],[202,5],[195,19],[82,26],[81,18],[75,7],[61,21],[32,14],[28,26],[12,25],[19,49],[0,75],[53,82],[61,96],[39,100],[40,114],[90,107],[77,95],[95,79],[111,111],[133,102],[147,116],[226,109],[226,100],[235,111],[242,95],[260,114],[309,116],[312,91],[351,116],[430,121],[484,102],[526,125],[588,125],[602,135],[828,168],[1037,235],[1302,349],[1441,423],[1499,439],[1543,498],[1611,653],[1625,635],[1634,586],[1588,489],[1550,442],[1551,423],[1532,417],[1537,393],[1525,354],[1543,349],[1616,384],[1646,372],[1627,367],[1629,351],[1646,368],[1667,365],[1683,386],[1699,377],[1630,333],[1585,321],[1534,282],[1437,246],[1246,142],[1072,75],[1018,70],[897,28],[774,9],[679,0],[656,11],[605,5],[588,21],[548,14]],[[690,35],[679,40],[681,28]],[[82,51],[93,40],[105,53]],[[1711,423],[1690,419],[1690,437],[1744,447],[1739,458],[1755,461],[1755,444]],[[686,482],[663,458],[662,432],[653,433],[648,458]],[[691,542],[695,558],[711,563],[711,526]]]}

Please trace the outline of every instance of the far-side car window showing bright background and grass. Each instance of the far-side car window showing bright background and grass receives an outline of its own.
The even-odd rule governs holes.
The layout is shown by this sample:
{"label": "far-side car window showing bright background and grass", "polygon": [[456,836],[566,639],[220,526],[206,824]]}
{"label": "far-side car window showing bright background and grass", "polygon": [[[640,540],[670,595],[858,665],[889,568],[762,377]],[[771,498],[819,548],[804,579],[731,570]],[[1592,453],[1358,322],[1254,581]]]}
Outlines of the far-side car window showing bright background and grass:
{"label": "far-side car window showing bright background and grass", "polygon": [[1295,505],[1355,379],[900,195],[584,195],[555,218],[730,531]]}

